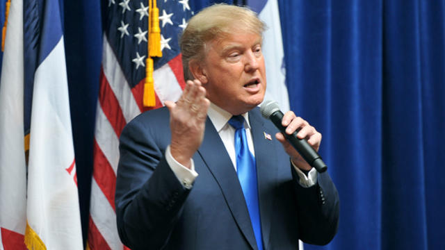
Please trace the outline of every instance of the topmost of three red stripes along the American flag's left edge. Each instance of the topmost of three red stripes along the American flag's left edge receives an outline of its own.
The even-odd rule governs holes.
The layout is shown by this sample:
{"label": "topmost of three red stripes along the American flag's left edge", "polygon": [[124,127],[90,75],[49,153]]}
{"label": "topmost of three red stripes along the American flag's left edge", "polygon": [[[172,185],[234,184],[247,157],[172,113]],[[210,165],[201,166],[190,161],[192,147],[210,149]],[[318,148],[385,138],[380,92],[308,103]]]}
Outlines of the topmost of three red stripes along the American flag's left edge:
{"label": "topmost of three red stripes along the American flag's left edge", "polygon": [[113,129],[119,138],[120,133],[127,122],[125,121],[124,114],[119,106],[119,101],[105,77],[103,68],[101,68],[100,71],[99,103],[102,110],[104,110],[106,118],[110,121],[111,126],[113,126]]}

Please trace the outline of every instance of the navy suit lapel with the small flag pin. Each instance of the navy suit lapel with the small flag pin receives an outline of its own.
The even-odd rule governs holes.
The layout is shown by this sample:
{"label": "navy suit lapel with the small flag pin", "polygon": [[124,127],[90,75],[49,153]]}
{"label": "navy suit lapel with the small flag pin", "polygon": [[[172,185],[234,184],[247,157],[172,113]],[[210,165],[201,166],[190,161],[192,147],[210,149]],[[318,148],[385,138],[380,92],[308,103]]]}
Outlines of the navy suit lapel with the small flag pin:
{"label": "navy suit lapel with the small flag pin", "polygon": [[275,140],[273,131],[268,131],[264,126],[258,108],[249,112],[250,127],[252,128],[252,139],[255,149],[255,160],[257,163],[257,180],[259,192],[259,211],[261,216],[261,231],[263,233],[264,248],[268,248],[270,238],[270,222],[273,204],[273,187],[275,187],[277,167],[272,140],[266,139],[264,133],[270,134]]}

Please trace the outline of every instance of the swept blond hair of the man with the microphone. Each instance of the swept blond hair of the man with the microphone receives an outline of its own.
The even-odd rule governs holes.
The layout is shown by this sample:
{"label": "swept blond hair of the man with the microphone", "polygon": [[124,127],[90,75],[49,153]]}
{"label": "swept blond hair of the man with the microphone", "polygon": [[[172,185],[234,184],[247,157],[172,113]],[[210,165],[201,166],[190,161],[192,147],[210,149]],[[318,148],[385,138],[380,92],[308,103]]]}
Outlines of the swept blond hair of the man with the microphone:
{"label": "swept blond hair of the man with the microphone", "polygon": [[192,59],[202,60],[204,58],[205,44],[215,39],[224,38],[234,28],[262,36],[266,24],[249,8],[224,3],[204,8],[189,20],[179,39],[184,80],[193,79],[193,75],[188,69],[188,63]]}

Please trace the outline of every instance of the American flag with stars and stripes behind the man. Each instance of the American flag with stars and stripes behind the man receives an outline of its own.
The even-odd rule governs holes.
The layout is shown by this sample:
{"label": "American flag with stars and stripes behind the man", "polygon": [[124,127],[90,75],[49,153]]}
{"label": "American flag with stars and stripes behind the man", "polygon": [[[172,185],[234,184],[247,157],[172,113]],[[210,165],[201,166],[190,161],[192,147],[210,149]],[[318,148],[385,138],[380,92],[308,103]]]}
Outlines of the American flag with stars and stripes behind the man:
{"label": "American flag with stars and stripes behind the man", "polygon": [[[119,137],[143,107],[148,1],[104,0],[104,42],[95,125],[88,247],[123,249],[115,216]],[[193,15],[188,0],[158,1],[162,58],[154,58],[156,107],[176,101],[184,88],[180,33]]]}

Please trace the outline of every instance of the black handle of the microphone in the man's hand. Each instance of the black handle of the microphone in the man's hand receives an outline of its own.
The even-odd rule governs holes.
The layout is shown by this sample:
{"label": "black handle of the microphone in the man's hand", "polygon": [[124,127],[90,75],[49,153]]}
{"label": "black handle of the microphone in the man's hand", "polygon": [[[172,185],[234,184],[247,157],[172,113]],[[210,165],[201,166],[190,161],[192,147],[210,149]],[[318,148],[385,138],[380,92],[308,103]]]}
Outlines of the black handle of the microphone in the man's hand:
{"label": "black handle of the microphone in the man's hand", "polygon": [[300,153],[303,159],[306,160],[309,165],[315,167],[319,173],[323,173],[327,170],[327,166],[321,159],[321,156],[309,145],[305,138],[299,139],[297,137],[298,131],[293,132],[291,135],[286,133],[286,127],[282,126],[283,113],[280,110],[275,111],[270,115],[270,120],[277,126],[280,132],[284,135],[291,145]]}

